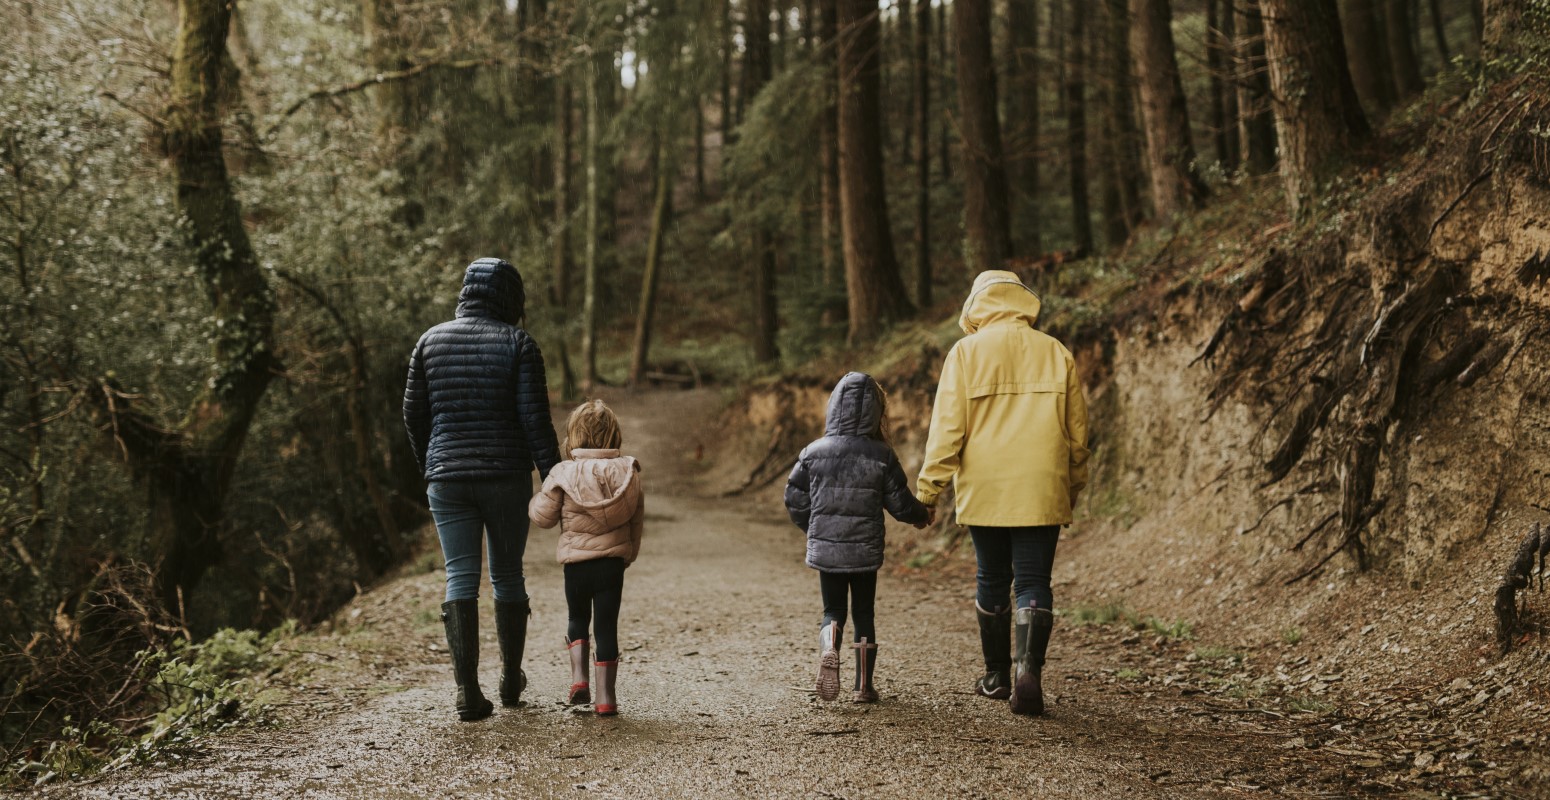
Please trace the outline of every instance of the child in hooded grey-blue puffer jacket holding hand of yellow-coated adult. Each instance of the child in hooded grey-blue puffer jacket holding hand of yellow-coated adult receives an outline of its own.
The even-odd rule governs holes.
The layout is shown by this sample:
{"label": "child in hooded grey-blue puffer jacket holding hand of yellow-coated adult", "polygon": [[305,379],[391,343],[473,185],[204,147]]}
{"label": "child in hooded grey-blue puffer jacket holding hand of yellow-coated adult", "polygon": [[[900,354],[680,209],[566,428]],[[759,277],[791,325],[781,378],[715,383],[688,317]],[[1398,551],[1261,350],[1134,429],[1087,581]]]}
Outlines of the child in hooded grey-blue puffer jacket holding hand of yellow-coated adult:
{"label": "child in hooded grey-blue puffer jacket holding hand of yellow-coated adult", "polygon": [[927,521],[925,505],[914,499],[888,447],[887,419],[882,386],[871,375],[846,374],[829,395],[823,439],[803,448],[786,481],[786,510],[808,532],[808,566],[818,571],[823,592],[818,698],[826,701],[840,693],[839,645],[849,595],[856,617],[856,702],[877,702],[873,603],[882,569],[882,513],[914,527]]}

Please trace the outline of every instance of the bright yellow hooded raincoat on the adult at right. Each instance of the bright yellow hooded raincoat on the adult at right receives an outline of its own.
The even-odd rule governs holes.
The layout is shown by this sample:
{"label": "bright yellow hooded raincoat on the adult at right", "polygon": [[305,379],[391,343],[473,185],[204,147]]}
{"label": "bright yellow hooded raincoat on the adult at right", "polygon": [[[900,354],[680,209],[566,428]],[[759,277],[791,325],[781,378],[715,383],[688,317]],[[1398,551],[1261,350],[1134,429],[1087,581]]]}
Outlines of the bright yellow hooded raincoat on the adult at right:
{"label": "bright yellow hooded raincoat on the adult at right", "polygon": [[942,364],[916,485],[932,505],[952,481],[964,526],[1059,526],[1087,485],[1087,402],[1071,352],[1034,330],[1038,296],[1001,270],[964,301]]}

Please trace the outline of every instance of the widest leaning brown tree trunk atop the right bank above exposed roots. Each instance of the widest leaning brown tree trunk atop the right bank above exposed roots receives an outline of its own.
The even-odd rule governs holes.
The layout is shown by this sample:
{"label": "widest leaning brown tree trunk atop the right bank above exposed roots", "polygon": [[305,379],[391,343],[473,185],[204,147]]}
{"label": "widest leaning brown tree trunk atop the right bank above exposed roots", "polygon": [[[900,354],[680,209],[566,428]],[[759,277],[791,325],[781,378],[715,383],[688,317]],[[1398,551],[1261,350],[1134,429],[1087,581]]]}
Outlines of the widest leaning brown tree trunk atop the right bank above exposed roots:
{"label": "widest leaning brown tree trunk atop the right bank above exposed roots", "polygon": [[1286,200],[1300,214],[1370,133],[1345,67],[1335,0],[1260,0]]}

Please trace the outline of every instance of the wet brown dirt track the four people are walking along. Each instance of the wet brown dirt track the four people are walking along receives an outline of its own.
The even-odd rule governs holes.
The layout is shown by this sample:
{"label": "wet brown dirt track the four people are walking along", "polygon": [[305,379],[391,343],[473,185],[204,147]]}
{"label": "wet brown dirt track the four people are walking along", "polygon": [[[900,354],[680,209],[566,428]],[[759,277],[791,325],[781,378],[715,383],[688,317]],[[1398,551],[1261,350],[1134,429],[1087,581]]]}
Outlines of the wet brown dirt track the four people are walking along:
{"label": "wet brown dirt track the four people are walking along", "polygon": [[[978,676],[972,567],[885,569],[877,602],[882,702],[839,702],[812,687],[817,577],[801,533],[736,498],[696,488],[691,425],[715,392],[611,402],[625,450],[642,459],[648,529],[628,572],[620,639],[622,715],[561,698],[564,600],[553,532],[527,550],[535,616],[525,707],[482,722],[451,713],[436,608],[440,571],[356,598],[298,656],[276,726],[220,735],[197,752],[48,797],[1350,797],[1359,769],[1296,749],[1305,724],[1243,713],[1189,688],[1139,691],[1108,678],[1135,653],[1111,628],[1057,620],[1049,713],[1028,719],[970,691]],[[428,533],[429,535],[429,533]],[[1056,591],[1080,575],[1060,571]],[[482,602],[480,671],[498,650]],[[1159,656],[1161,657],[1161,656]],[[282,676],[285,678],[285,676]]]}

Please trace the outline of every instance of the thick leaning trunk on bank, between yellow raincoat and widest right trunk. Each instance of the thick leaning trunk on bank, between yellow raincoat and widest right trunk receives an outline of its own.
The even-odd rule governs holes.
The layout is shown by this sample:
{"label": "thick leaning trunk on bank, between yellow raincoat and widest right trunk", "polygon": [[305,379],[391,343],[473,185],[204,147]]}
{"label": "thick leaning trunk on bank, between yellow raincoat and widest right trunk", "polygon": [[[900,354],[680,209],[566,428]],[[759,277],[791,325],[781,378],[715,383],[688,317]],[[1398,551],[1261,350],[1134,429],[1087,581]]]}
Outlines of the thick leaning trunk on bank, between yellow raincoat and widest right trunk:
{"label": "thick leaning trunk on bank, between yellow raincoat and widest right trunk", "polygon": [[1200,208],[1206,183],[1195,171],[1189,107],[1173,51],[1169,0],[1130,0],[1130,56],[1141,85],[1141,121],[1147,132],[1147,174],[1158,220]]}

